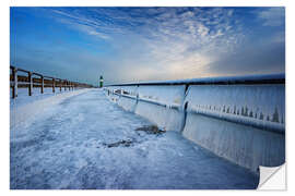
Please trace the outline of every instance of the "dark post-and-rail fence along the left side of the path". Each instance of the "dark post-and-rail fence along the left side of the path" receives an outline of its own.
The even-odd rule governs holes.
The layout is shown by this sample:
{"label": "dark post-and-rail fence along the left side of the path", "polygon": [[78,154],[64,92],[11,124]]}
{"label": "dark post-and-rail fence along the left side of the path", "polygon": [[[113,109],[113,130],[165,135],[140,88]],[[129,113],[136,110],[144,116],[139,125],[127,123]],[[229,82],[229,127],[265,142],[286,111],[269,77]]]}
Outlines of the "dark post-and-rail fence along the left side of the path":
{"label": "dark post-and-rail fence along the left side of the path", "polygon": [[[23,70],[15,66],[10,66],[10,87],[12,88],[12,98],[17,97],[17,88],[27,88],[28,89],[28,96],[32,96],[33,87],[39,87],[40,93],[44,94],[45,87],[51,87],[52,93],[55,93],[56,87],[59,87],[59,90],[61,91],[62,88],[64,90],[74,89],[76,87],[79,88],[85,88],[85,87],[92,87],[92,85],[78,83],[78,82],[71,82],[68,79],[61,79],[57,77],[46,76],[36,72],[31,72],[27,70]],[[21,75],[20,73],[26,74]],[[37,76],[37,77],[36,77]]]}

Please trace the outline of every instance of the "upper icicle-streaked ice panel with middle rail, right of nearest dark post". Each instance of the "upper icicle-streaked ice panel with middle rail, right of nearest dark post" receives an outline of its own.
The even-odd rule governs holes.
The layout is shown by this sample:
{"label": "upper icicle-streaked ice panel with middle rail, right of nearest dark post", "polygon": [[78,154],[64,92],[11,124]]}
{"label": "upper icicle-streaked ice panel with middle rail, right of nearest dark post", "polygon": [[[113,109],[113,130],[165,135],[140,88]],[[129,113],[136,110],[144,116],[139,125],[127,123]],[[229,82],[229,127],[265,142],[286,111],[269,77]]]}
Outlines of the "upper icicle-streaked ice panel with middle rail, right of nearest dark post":
{"label": "upper icicle-streaked ice panel with middle rail, right of nearest dark post", "polygon": [[284,132],[284,85],[192,85],[188,111]]}

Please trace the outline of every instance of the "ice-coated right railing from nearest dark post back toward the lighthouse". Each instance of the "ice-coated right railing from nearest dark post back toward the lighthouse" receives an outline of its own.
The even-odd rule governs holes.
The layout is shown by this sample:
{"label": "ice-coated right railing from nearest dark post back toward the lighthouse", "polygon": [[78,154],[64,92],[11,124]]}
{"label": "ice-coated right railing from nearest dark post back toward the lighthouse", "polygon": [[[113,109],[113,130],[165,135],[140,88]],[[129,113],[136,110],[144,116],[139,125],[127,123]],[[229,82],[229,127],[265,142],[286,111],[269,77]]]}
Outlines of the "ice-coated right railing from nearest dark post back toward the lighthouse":
{"label": "ice-coated right railing from nearest dark post back toward the lighthouse", "polygon": [[117,103],[120,107],[149,119],[160,128],[177,132],[182,128],[184,85],[117,86],[107,89],[117,91],[116,95],[110,96],[117,96]]}

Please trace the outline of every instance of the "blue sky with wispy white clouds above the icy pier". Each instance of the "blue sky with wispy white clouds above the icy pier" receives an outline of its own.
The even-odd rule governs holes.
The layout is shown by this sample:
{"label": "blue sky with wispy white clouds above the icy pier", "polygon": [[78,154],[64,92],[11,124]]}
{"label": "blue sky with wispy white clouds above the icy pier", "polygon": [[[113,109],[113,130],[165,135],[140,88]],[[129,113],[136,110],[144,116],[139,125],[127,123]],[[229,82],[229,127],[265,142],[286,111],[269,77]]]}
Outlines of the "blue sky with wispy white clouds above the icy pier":
{"label": "blue sky with wispy white clouds above the icy pier", "polygon": [[10,62],[94,85],[285,73],[285,10],[14,7]]}

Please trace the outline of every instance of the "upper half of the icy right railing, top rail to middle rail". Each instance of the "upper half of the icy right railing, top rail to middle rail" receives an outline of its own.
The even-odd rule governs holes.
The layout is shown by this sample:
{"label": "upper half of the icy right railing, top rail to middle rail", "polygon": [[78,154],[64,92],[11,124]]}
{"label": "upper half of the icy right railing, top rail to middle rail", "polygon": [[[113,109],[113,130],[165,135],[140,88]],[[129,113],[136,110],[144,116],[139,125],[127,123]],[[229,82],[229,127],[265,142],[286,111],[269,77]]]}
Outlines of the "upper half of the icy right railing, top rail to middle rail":
{"label": "upper half of the icy right railing, top rail to middle rail", "polygon": [[106,86],[118,96],[284,132],[284,74],[141,82]]}

